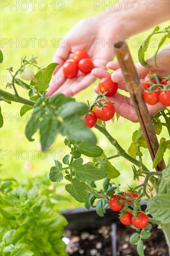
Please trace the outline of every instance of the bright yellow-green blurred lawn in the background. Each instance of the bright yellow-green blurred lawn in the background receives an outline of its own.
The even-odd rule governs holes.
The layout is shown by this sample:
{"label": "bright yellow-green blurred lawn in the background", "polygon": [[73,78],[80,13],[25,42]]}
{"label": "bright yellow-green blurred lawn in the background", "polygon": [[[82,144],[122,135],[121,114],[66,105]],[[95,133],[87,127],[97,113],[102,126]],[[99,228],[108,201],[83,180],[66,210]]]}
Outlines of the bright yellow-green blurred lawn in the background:
{"label": "bright yellow-green blurred lawn in the background", "polygon": [[[2,2],[3,1],[1,1],[1,4]],[[16,3],[16,1],[12,2],[13,4]],[[19,3],[20,2],[21,1],[19,1]],[[30,1],[27,2],[29,3]],[[111,1],[105,1],[105,4],[110,2]],[[62,3],[64,3],[63,7],[61,7]],[[4,61],[1,65],[1,75],[8,75],[7,67],[13,67],[13,70],[16,70],[20,65],[20,57],[27,56],[29,58],[32,54],[33,56],[38,57],[38,63],[40,66],[47,66],[52,60],[55,49],[59,44],[59,39],[61,39],[78,20],[87,16],[95,15],[102,11],[102,7],[99,7],[97,8],[97,11],[94,11],[94,2],[92,0],[55,1],[55,11],[53,10],[54,1],[48,0],[46,1],[46,4],[47,9],[45,11],[40,10],[36,3],[34,10],[32,10],[32,5],[29,3],[30,7],[27,11],[22,11],[20,8],[19,10],[16,10],[16,7],[13,7],[12,11],[10,11],[9,7],[4,7],[4,10],[1,11],[1,39],[7,39],[9,42],[15,42],[16,40],[21,42],[21,39],[26,38],[29,41],[29,45],[26,48],[20,45],[16,46],[16,44],[12,44],[10,46],[10,43],[4,44],[3,46],[1,45],[1,49],[4,54]],[[60,7],[64,10],[57,10],[57,8]],[[24,4],[22,8],[25,8]],[[44,8],[44,6],[42,5],[41,8]],[[164,28],[167,25],[168,22],[164,22],[160,27]],[[135,35],[131,40],[137,38],[142,42],[152,29],[153,28],[144,33]],[[47,46],[45,48],[40,47],[38,44],[38,42],[40,42],[39,40],[42,38],[47,41]],[[54,38],[56,46],[53,45]],[[37,39],[35,40],[34,47],[32,47],[30,39]],[[159,37],[157,37],[157,39],[159,39]],[[41,43],[43,44],[43,41],[41,41]],[[165,44],[167,44],[167,41]],[[158,43],[155,44],[155,46],[157,45]],[[138,47],[131,47],[130,43],[129,47],[133,60],[137,62]],[[155,47],[152,47],[150,51],[147,52],[146,57],[152,55],[155,50]],[[6,84],[3,83],[1,88],[4,89],[5,86]],[[92,88],[93,85],[76,95],[75,98],[78,101],[83,101],[85,103],[87,100],[92,102],[95,98]],[[25,96],[27,95],[22,88],[18,89],[20,90],[20,94]],[[10,89],[7,90],[10,91]],[[19,109],[21,105],[18,103],[12,103],[11,106],[2,102],[1,107],[2,112],[6,116],[6,118],[4,118],[4,126],[1,129],[1,178],[13,177],[18,181],[21,181],[27,177],[34,178],[37,175],[45,175],[49,172],[50,167],[54,165],[54,159],[61,160],[63,155],[69,152],[68,149],[65,148],[63,137],[61,136],[57,137],[51,150],[46,153],[41,152],[39,147],[39,135],[34,135],[35,141],[33,142],[29,142],[24,135],[26,121],[30,114],[28,113],[28,115],[20,118]],[[114,124],[108,123],[107,127],[113,137],[118,140],[119,144],[125,150],[128,150],[133,131],[139,127],[139,124],[121,119]],[[115,149],[111,147],[103,135],[96,133],[95,129],[94,132],[98,137],[98,145],[105,150],[105,154],[108,156],[113,155]],[[160,139],[161,137],[166,136],[167,134],[163,127],[163,132],[158,136],[158,138]],[[152,164],[147,150],[144,149],[143,153],[144,163],[151,169]],[[127,186],[127,182],[128,184],[134,183],[132,179],[133,176],[130,175],[132,171],[131,164],[129,162],[122,158],[120,160],[114,159],[112,163],[121,172],[121,175],[115,181],[117,184],[121,183],[121,186],[125,187]],[[62,184],[54,185],[56,187],[62,186]],[[81,205],[72,199],[70,195],[62,192],[62,189],[61,191],[59,190],[59,192],[66,197],[65,202],[59,204],[59,209],[73,208]]]}

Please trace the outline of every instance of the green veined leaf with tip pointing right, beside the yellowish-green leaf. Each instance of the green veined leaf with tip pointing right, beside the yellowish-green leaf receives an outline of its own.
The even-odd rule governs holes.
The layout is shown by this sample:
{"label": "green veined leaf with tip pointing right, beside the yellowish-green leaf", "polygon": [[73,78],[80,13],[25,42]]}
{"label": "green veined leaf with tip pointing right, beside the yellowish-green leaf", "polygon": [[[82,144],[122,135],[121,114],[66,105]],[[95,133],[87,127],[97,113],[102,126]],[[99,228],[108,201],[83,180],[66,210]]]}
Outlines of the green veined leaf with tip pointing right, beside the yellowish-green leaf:
{"label": "green veined leaf with tip pointing right, beside the yellowish-green leaf", "polygon": [[102,169],[97,168],[93,164],[83,164],[83,159],[78,158],[71,164],[76,178],[82,182],[97,181],[105,178],[106,174]]}

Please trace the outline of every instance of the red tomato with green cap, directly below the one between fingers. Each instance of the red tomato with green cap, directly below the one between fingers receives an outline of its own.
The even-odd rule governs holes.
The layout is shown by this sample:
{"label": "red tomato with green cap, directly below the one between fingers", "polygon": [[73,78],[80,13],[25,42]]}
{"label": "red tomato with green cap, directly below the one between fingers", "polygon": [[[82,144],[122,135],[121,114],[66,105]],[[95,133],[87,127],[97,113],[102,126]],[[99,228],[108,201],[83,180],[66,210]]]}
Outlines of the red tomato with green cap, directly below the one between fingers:
{"label": "red tomato with green cap, directly below the one between fingers", "polygon": [[115,114],[115,108],[111,102],[107,102],[105,100],[101,101],[101,103],[105,103],[103,108],[98,106],[95,107],[94,113],[98,119],[102,121],[109,121]]}

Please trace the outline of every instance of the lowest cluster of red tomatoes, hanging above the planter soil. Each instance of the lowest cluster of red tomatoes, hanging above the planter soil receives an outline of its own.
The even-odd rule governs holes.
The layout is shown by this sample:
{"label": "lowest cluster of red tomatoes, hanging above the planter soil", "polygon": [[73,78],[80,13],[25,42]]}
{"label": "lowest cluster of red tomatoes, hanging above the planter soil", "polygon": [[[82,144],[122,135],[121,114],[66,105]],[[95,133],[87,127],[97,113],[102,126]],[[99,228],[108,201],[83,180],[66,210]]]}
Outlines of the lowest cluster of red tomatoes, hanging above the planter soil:
{"label": "lowest cluster of red tomatoes, hanging above the planter soil", "polygon": [[[128,199],[126,199],[126,196],[128,196]],[[124,205],[127,205],[128,202],[134,201],[138,196],[138,193],[131,195],[130,191],[126,191],[123,196],[113,195],[109,200],[109,206],[113,211],[120,211]],[[124,203],[120,203],[120,200],[124,200]],[[143,211],[138,211],[137,217],[135,217],[131,211],[125,210],[120,215],[120,222],[124,225],[133,224],[137,229],[144,229],[148,225],[149,219]]]}

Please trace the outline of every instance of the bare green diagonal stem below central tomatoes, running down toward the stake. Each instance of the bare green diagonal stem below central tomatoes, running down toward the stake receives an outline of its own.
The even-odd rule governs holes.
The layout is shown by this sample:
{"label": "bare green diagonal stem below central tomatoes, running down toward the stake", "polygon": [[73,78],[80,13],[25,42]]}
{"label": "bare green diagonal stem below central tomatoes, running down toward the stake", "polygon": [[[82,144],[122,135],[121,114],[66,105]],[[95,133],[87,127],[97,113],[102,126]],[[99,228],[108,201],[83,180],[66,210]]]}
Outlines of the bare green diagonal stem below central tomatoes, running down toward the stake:
{"label": "bare green diagonal stem below central tomatoes, running down toward the stake", "polygon": [[111,142],[111,144],[118,149],[118,152],[121,156],[123,156],[125,159],[129,160],[130,162],[132,162],[133,164],[135,164],[137,167],[141,167],[143,168],[144,171],[149,172],[149,170],[144,166],[143,163],[140,163],[139,161],[137,161],[135,158],[131,157],[131,155],[128,155],[124,149],[118,144],[118,141],[116,141],[106,130],[105,127],[101,127],[98,124],[95,126],[96,129],[98,129],[103,135],[105,135],[105,137]]}

